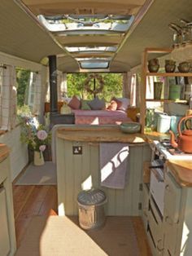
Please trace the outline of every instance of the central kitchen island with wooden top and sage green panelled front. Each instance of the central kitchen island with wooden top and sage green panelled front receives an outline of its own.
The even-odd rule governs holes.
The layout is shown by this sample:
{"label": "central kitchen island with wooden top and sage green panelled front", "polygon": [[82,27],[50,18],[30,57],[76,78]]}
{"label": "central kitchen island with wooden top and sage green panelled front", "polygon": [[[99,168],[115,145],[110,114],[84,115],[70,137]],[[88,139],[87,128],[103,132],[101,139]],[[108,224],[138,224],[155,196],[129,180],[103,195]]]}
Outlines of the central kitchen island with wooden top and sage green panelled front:
{"label": "central kitchen island with wooden top and sage green panelled front", "polygon": [[[59,215],[76,215],[76,198],[81,189],[99,188],[107,196],[106,214],[109,216],[139,216],[142,201],[142,164],[150,161],[151,148],[145,135],[124,134],[120,126],[57,126],[55,148],[58,177]],[[129,156],[126,162],[127,178],[124,189],[107,188],[101,185],[102,166],[100,143],[128,143]],[[75,152],[75,148],[77,152]],[[113,148],[114,157],[118,150]],[[120,156],[120,155],[118,155]],[[119,157],[118,157],[119,159]],[[108,161],[108,159],[107,159]],[[111,158],[110,163],[113,163]],[[112,167],[113,168],[113,167]]]}

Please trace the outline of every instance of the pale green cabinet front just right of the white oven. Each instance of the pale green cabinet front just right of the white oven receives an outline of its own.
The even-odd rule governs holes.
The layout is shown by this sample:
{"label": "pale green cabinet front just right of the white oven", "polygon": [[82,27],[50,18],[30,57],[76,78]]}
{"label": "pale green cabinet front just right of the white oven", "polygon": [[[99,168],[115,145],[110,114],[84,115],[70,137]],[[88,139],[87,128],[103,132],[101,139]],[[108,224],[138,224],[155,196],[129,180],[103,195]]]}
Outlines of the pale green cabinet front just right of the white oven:
{"label": "pale green cabinet front just right of the white oven", "polygon": [[180,214],[181,187],[177,185],[171,174],[165,174],[164,208],[173,223],[177,223]]}

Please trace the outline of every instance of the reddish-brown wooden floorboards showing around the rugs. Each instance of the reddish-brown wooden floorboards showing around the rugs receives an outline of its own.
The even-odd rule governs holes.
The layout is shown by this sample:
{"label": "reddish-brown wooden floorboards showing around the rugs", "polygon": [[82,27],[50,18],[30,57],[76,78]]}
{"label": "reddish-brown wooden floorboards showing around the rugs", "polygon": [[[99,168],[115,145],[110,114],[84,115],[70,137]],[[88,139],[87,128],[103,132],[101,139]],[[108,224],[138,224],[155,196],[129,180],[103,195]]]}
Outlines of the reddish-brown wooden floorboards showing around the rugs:
{"label": "reddish-brown wooden floorboards showing around the rugs", "polygon": [[[57,188],[56,186],[13,185],[13,200],[16,241],[17,247],[19,247],[33,216],[57,214]],[[133,227],[137,235],[141,256],[151,256],[140,217],[133,217]]]}

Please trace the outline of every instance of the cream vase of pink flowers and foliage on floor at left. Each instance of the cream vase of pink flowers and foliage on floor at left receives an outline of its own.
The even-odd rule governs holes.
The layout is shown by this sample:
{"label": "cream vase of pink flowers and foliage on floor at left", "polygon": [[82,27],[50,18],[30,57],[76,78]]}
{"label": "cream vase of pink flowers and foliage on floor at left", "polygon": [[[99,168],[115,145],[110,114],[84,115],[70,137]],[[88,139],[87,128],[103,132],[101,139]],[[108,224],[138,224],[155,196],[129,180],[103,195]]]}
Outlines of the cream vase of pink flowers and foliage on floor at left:
{"label": "cream vase of pink flowers and foliage on floor at left", "polygon": [[26,117],[22,125],[21,141],[28,144],[28,148],[33,150],[33,164],[35,166],[44,165],[43,153],[50,143],[50,134],[45,126],[33,121],[33,118]]}

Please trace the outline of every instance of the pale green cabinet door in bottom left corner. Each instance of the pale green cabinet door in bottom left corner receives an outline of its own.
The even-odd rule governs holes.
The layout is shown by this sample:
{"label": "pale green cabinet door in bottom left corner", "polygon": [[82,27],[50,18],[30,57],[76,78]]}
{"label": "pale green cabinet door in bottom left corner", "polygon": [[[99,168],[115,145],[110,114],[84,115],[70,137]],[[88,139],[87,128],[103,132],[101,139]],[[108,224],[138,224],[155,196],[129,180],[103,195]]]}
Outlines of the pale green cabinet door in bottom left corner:
{"label": "pale green cabinet door in bottom left corner", "polygon": [[7,223],[6,192],[0,188],[0,255],[6,256],[10,251],[10,240]]}

